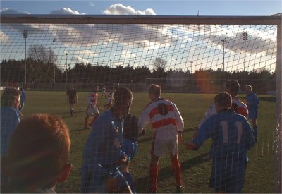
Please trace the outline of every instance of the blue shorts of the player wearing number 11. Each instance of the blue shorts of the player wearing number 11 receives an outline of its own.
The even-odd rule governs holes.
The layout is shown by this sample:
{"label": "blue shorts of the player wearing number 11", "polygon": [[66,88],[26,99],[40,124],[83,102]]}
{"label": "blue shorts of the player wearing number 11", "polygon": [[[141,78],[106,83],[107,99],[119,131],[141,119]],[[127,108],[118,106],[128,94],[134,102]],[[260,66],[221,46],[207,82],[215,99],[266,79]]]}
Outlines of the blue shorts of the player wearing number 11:
{"label": "blue shorts of the player wearing number 11", "polygon": [[212,163],[212,177],[209,186],[216,193],[242,193],[246,170],[245,159],[217,158]]}

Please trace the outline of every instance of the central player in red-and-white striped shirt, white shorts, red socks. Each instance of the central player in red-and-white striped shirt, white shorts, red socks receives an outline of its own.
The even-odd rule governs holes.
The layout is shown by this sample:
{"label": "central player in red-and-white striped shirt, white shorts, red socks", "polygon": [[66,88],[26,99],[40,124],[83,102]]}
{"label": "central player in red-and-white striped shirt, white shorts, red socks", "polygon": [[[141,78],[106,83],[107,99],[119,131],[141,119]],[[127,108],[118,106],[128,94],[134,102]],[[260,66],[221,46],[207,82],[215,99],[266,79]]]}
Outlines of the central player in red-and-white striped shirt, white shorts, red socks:
{"label": "central player in red-and-white striped shirt, white shorts, red socks", "polygon": [[182,140],[184,122],[176,104],[161,98],[161,86],[149,85],[147,91],[152,102],[142,111],[138,121],[138,133],[145,131],[145,126],[152,123],[154,138],[149,166],[151,187],[148,192],[155,193],[157,191],[159,158],[168,150],[176,178],[176,191],[180,193],[183,190],[183,185],[178,160],[178,143]]}

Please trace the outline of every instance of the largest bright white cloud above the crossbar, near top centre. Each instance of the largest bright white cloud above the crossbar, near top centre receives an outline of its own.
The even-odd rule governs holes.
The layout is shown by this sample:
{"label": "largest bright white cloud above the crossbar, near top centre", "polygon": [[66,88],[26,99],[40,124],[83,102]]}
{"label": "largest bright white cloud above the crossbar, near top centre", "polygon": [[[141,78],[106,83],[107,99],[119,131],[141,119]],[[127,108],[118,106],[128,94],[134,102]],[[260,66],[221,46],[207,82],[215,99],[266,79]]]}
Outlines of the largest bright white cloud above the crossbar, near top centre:
{"label": "largest bright white cloud above the crossbar, near top centre", "polygon": [[156,15],[152,8],[147,8],[145,11],[135,10],[130,6],[123,6],[123,4],[111,5],[104,11],[106,15]]}

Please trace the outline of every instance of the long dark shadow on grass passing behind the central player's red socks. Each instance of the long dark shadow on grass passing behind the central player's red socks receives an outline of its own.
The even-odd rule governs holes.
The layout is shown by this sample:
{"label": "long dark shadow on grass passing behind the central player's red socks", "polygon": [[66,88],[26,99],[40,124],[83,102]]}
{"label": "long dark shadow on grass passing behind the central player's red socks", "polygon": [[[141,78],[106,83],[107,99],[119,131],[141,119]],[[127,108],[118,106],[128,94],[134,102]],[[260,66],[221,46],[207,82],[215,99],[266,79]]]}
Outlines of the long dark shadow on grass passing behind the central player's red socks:
{"label": "long dark shadow on grass passing behind the central player's red socks", "polygon": [[[181,172],[186,171],[193,166],[197,166],[199,164],[202,164],[204,162],[208,162],[210,160],[209,158],[209,152],[201,154],[200,156],[194,157],[192,159],[188,159],[184,162],[181,162]],[[149,165],[149,164],[148,164]],[[149,172],[148,172],[149,173]],[[159,181],[164,181],[167,178],[173,177],[173,171],[172,166],[167,166],[164,169],[159,169]],[[146,193],[147,189],[149,188],[149,174],[148,176],[137,178],[135,179],[135,186],[138,193]]]}

